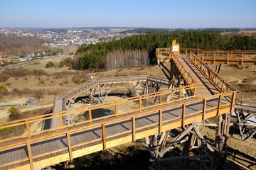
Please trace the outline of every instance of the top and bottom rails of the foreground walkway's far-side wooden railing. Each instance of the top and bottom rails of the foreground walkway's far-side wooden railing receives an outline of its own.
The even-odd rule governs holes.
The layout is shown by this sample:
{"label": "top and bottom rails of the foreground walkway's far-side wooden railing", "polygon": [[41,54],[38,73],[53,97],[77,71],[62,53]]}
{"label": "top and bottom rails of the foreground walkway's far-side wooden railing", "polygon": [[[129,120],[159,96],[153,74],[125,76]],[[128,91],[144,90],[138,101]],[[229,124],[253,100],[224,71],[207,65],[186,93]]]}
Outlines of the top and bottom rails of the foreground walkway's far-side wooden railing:
{"label": "top and bottom rails of the foreground walkway's far-side wooden railing", "polygon": [[[146,109],[146,108],[152,108],[152,107],[155,107],[155,106],[163,106],[165,104],[173,103],[175,101],[178,101],[178,99],[173,100],[173,101],[169,101],[169,102],[162,102],[161,101],[161,103],[159,101],[159,103],[156,103],[156,104],[151,105],[151,106],[146,106],[146,107],[143,107],[143,108],[142,108],[142,103],[140,103],[140,102],[142,102],[142,100],[144,100],[144,99],[148,99],[148,98],[152,98],[152,97],[161,96],[161,98],[162,98],[162,96],[164,96],[164,95],[173,94],[173,93],[176,93],[178,91],[189,90],[189,89],[191,89],[192,91],[195,91],[196,88],[197,88],[197,85],[194,84],[194,85],[191,85],[191,86],[184,86],[184,87],[180,87],[180,88],[176,88],[176,89],[170,89],[170,90],[167,90],[167,91],[155,92],[155,93],[152,93],[152,94],[145,94],[145,95],[142,95],[142,96],[139,96],[139,97],[136,96],[136,97],[131,97],[131,98],[124,98],[124,99],[119,100],[119,101],[111,101],[111,102],[107,102],[107,103],[101,103],[101,104],[98,104],[98,105],[95,105],[95,106],[89,106],[87,108],[75,108],[75,109],[72,109],[70,111],[64,111],[64,112],[50,114],[50,116],[43,115],[41,117],[25,119],[22,122],[18,122],[18,123],[10,122],[8,124],[1,125],[0,129],[11,128],[11,127],[15,127],[15,126],[18,126],[18,125],[26,125],[26,123],[28,123],[28,126],[26,126],[26,128],[27,128],[27,131],[29,131],[29,123],[35,123],[35,122],[48,120],[48,119],[52,119],[52,118],[59,118],[59,119],[61,118],[62,119],[62,117],[65,116],[65,115],[80,114],[80,113],[84,113],[84,112],[89,113],[89,120],[82,121],[81,123],[74,123],[72,125],[63,125],[61,123],[60,125],[63,125],[63,126],[58,127],[58,128],[53,128],[53,129],[50,129],[50,130],[42,130],[42,131],[39,131],[39,132],[30,132],[31,136],[38,135],[38,134],[41,134],[42,132],[50,132],[50,131],[54,131],[54,130],[60,130],[60,129],[63,129],[63,128],[66,128],[66,127],[80,125],[82,123],[92,123],[96,120],[102,120],[102,119],[105,119],[105,118],[110,118],[110,117],[114,117],[114,116],[117,116],[117,115],[127,114],[127,113],[131,113],[131,112],[134,112],[134,111],[142,111],[142,109]],[[188,98],[195,98],[195,97],[196,97],[196,94],[194,94],[194,96],[188,96],[188,97],[180,98],[179,100],[186,100]],[[131,103],[131,102],[135,102],[135,101],[139,101],[139,103],[140,103],[139,107],[137,109],[132,109],[131,111],[126,111],[126,112],[123,112],[123,113],[118,113],[117,115],[115,115],[115,114],[114,115],[105,115],[105,116],[102,116],[100,118],[93,118],[92,119],[92,111],[93,110],[97,110],[99,108],[106,108],[106,107],[114,106],[114,107],[116,107],[115,111],[117,111],[117,108],[120,104]],[[62,120],[59,120],[59,121],[62,121]],[[0,140],[0,142],[14,140],[14,139],[18,139],[18,138],[19,138],[19,136],[18,137],[11,137],[9,139]]]}

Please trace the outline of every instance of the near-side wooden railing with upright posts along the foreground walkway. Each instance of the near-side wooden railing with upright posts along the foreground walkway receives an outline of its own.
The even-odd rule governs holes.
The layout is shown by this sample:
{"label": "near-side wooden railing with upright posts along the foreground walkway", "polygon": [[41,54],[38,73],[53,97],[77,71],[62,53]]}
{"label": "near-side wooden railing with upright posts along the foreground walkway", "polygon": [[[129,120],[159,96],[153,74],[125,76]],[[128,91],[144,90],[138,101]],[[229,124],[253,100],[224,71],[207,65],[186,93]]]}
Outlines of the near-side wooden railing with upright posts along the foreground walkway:
{"label": "near-side wooden railing with upright posts along the foreground walkway", "polygon": [[[132,133],[132,139],[135,140],[136,139],[136,131],[140,129],[140,128],[135,127],[135,123],[136,123],[137,118],[158,113],[159,114],[159,122],[158,123],[152,123],[151,125],[147,126],[147,128],[150,128],[150,127],[153,127],[153,126],[157,125],[159,127],[159,132],[162,132],[161,127],[164,124],[169,123],[169,120],[163,121],[162,118],[161,118],[164,111],[169,111],[171,108],[182,107],[182,114],[181,114],[181,117],[180,117],[181,120],[179,120],[179,121],[182,121],[182,125],[186,124],[185,122],[186,122],[186,119],[188,118],[188,116],[191,118],[191,116],[199,114],[199,115],[202,116],[202,120],[204,120],[206,118],[206,115],[210,112],[216,112],[217,111],[216,115],[220,115],[220,114],[223,114],[223,113],[220,112],[220,110],[223,109],[223,108],[230,108],[230,111],[232,111],[234,103],[235,103],[235,94],[236,94],[236,92],[237,91],[232,91],[232,92],[227,92],[227,93],[224,93],[224,94],[216,94],[216,95],[209,96],[209,97],[206,97],[206,98],[196,99],[196,100],[193,100],[193,101],[187,101],[187,102],[185,101],[183,103],[176,103],[176,104],[174,103],[171,106],[170,105],[164,106],[164,103],[159,103],[157,106],[163,106],[163,107],[156,108],[156,109],[152,108],[150,111],[137,112],[134,115],[122,113],[122,115],[124,115],[124,116],[118,117],[117,115],[120,115],[121,113],[115,113],[114,115],[112,115],[112,116],[117,116],[115,120],[105,119],[105,121],[97,121],[95,123],[91,123],[91,124],[87,124],[87,125],[85,125],[85,123],[83,123],[83,125],[80,125],[80,126],[76,125],[74,128],[62,127],[62,128],[60,128],[60,130],[55,131],[55,132],[41,134],[41,135],[38,135],[36,137],[28,137],[26,140],[19,140],[17,142],[12,142],[9,145],[1,146],[0,151],[4,151],[6,149],[13,149],[15,147],[26,146],[26,148],[28,149],[28,160],[29,160],[30,164],[32,164],[31,166],[33,166],[33,159],[34,158],[45,156],[47,154],[32,156],[32,154],[31,154],[31,144],[33,144],[35,142],[43,142],[43,141],[46,141],[46,140],[54,140],[54,139],[59,138],[59,137],[65,137],[67,139],[68,146],[65,147],[64,149],[62,149],[61,151],[68,150],[70,160],[72,160],[73,159],[73,154],[72,154],[73,148],[80,147],[82,145],[87,144],[87,143],[82,143],[82,144],[78,144],[78,145],[71,145],[70,135],[73,135],[77,132],[81,132],[81,131],[84,131],[84,130],[90,130],[92,128],[96,128],[96,127],[99,128],[100,127],[102,135],[98,139],[90,141],[88,143],[98,141],[98,142],[102,143],[102,149],[106,149],[107,139],[110,138],[110,137],[116,137],[116,136],[120,135],[120,134],[116,134],[116,135],[111,135],[111,136],[106,137],[106,125],[112,125],[114,123],[120,123],[124,120],[129,120],[132,123],[132,127],[129,130],[127,130],[126,132],[122,132],[122,135],[127,135],[127,134]],[[140,96],[139,98],[141,98],[141,97],[143,98],[143,96]],[[231,100],[227,101],[226,98],[231,98]],[[133,100],[133,99],[130,98],[130,100]],[[225,100],[226,102],[222,102],[223,100]],[[218,101],[218,102],[216,102],[217,104],[215,104],[215,106],[207,108],[208,102],[213,103],[213,101]],[[193,113],[190,113],[189,115],[186,115],[186,109],[188,107],[190,107],[190,108],[193,107],[194,104],[199,104],[199,106],[201,106],[201,108],[198,108],[198,111],[193,111]],[[95,108],[100,108],[100,106],[95,106]],[[31,122],[33,122],[33,121],[31,121]],[[28,122],[26,121],[26,123],[28,123]],[[48,154],[53,154],[55,152],[60,152],[60,150],[52,151]],[[23,160],[21,160],[21,161],[23,161]]]}

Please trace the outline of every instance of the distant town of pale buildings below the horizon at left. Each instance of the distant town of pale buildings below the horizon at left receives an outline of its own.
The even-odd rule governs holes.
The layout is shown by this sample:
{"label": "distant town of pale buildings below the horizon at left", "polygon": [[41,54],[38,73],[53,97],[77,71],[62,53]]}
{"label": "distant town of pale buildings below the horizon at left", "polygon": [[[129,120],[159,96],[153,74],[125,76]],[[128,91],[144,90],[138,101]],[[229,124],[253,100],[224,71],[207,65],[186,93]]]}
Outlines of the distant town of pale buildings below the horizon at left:
{"label": "distant town of pale buildings below the horizon at left", "polygon": [[137,33],[122,33],[132,28],[0,28],[0,34],[9,36],[38,37],[48,40],[50,47],[67,47],[118,40]]}

